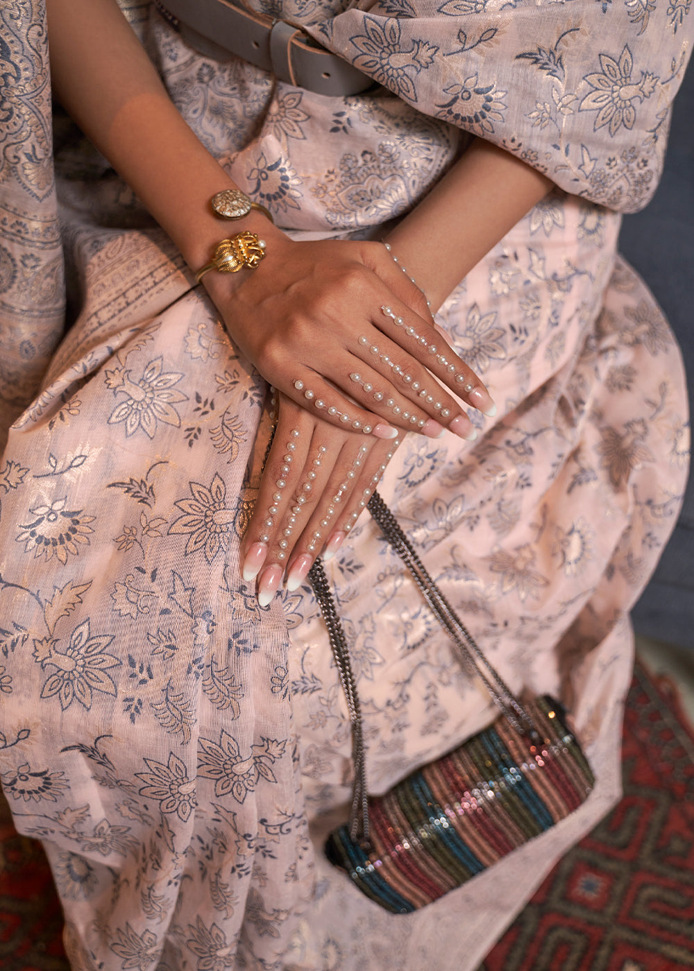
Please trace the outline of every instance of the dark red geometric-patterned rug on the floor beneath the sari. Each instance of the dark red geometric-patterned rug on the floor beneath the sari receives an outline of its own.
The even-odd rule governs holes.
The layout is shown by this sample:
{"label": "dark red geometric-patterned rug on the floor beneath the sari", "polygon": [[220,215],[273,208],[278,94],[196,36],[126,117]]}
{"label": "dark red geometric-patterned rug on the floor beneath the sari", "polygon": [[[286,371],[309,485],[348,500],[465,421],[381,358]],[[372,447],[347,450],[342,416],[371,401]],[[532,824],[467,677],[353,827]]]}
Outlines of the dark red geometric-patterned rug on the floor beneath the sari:
{"label": "dark red geometric-patterned rug on the floor beneath the sari", "polygon": [[[555,867],[479,971],[694,968],[694,730],[669,682],[637,666],[624,798]],[[38,844],[0,798],[0,968],[69,971]]]}

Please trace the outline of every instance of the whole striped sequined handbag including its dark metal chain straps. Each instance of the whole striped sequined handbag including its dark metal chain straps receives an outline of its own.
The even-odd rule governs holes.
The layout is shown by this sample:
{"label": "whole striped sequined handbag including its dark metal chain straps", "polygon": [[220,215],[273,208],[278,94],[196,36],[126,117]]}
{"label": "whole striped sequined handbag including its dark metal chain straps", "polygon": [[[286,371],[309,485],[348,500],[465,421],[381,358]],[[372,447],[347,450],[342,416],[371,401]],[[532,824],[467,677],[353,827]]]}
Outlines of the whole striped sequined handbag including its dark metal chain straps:
{"label": "whole striped sequined handbag including its dark metal chain straps", "polygon": [[385,795],[366,792],[362,715],[344,632],[317,561],[309,574],[328,626],[352,724],[355,781],[350,821],[326,853],[366,896],[394,914],[437,900],[580,806],[595,782],[561,705],[521,703],[477,647],[377,493],[369,511],[412,573],[466,670],[500,716]]}

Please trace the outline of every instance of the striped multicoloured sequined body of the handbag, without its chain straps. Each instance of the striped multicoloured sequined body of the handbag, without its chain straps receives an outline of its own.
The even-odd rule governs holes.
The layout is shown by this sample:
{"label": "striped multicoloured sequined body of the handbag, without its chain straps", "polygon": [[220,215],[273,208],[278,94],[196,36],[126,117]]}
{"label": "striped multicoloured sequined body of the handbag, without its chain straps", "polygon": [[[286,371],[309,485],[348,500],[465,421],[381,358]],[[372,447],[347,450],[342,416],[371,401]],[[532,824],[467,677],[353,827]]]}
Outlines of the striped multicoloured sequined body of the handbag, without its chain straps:
{"label": "striped multicoloured sequined body of the handbag, without its chain straps", "polygon": [[595,782],[548,695],[526,704],[539,738],[504,717],[462,746],[369,797],[370,846],[348,826],[330,834],[330,861],[376,903],[407,914],[431,903],[569,816]]}

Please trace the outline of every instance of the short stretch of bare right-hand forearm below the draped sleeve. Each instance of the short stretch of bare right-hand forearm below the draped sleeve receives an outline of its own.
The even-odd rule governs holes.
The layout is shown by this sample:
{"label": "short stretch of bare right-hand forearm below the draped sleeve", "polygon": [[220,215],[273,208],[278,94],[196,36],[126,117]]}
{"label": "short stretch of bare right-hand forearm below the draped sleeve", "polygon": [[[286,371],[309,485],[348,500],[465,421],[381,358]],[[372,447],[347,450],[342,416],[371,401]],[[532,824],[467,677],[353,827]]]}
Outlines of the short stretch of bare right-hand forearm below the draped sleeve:
{"label": "short stretch of bare right-hand forearm below the draped sleeve", "polygon": [[551,187],[536,169],[477,139],[388,242],[437,309]]}

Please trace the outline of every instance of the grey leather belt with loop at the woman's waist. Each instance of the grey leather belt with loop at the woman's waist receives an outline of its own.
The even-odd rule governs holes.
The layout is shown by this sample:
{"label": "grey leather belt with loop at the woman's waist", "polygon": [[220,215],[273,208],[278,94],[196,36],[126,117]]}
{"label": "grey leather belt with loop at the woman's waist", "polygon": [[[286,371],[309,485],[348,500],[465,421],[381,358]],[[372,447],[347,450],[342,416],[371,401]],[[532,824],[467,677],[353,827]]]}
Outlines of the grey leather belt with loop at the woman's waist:
{"label": "grey leather belt with loop at the woman's waist", "polygon": [[322,48],[286,20],[273,20],[228,0],[155,0],[200,53],[216,60],[242,57],[280,81],[330,96],[358,94],[373,84],[362,71]]}

